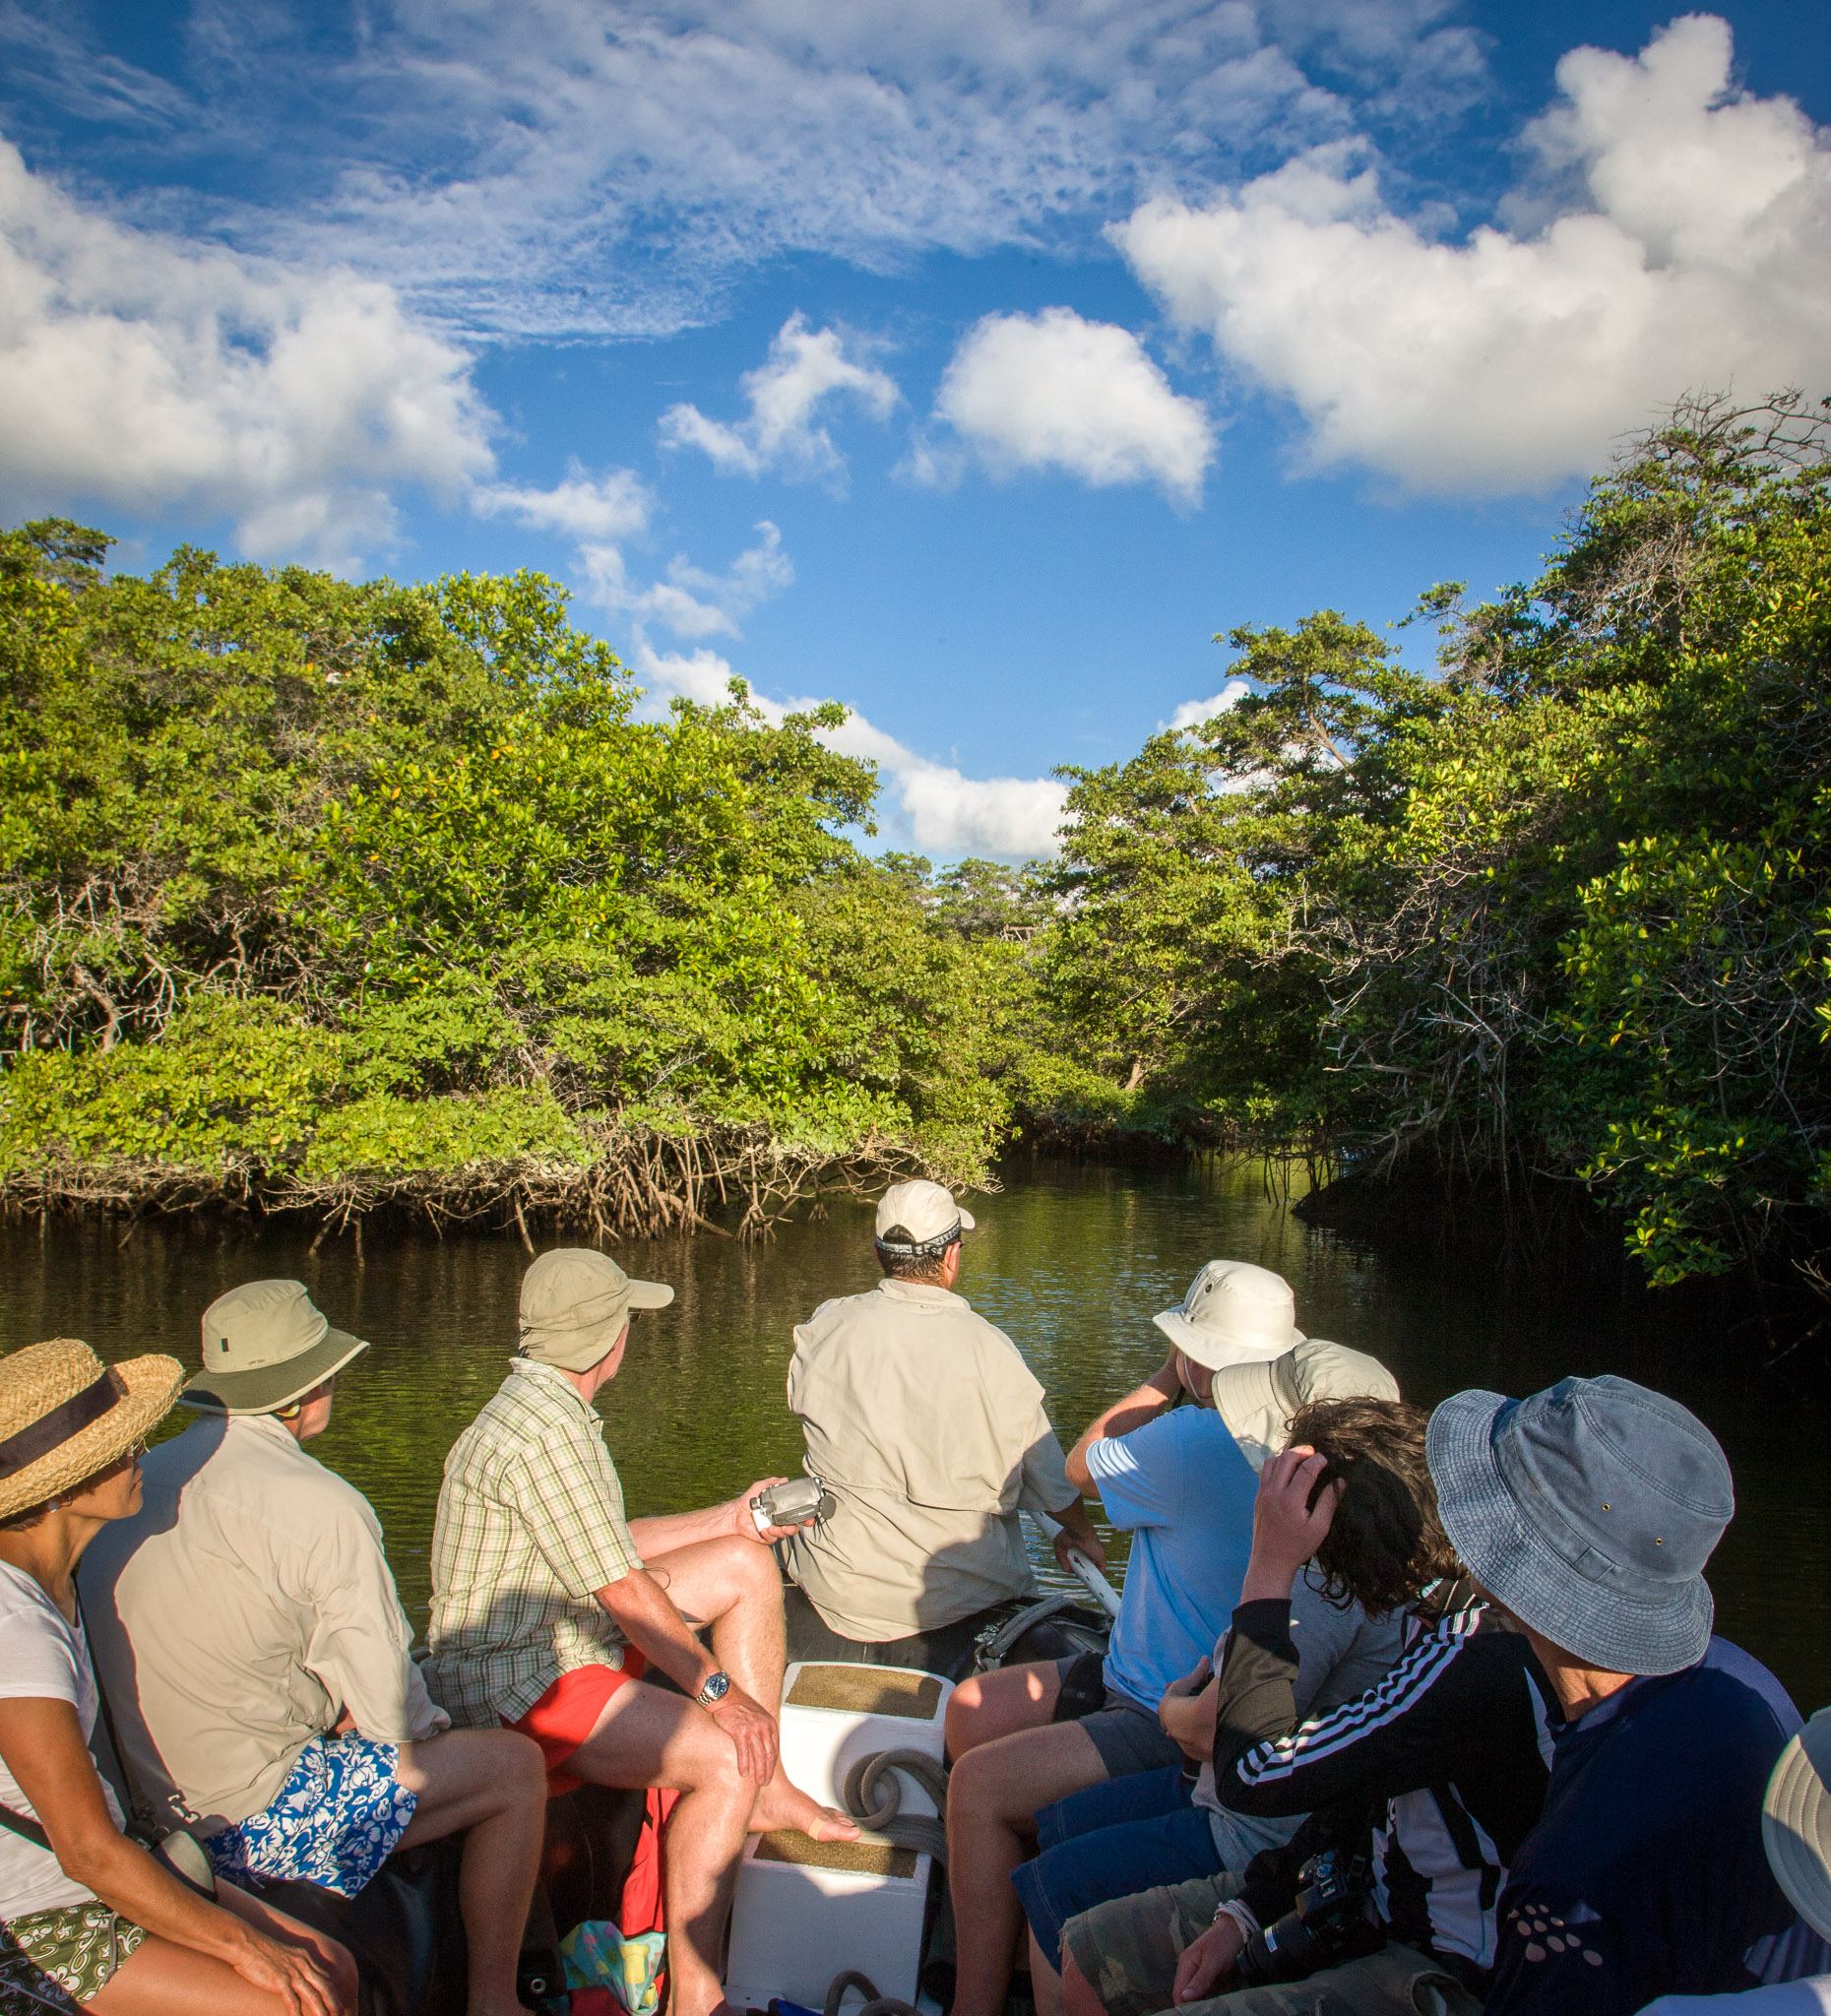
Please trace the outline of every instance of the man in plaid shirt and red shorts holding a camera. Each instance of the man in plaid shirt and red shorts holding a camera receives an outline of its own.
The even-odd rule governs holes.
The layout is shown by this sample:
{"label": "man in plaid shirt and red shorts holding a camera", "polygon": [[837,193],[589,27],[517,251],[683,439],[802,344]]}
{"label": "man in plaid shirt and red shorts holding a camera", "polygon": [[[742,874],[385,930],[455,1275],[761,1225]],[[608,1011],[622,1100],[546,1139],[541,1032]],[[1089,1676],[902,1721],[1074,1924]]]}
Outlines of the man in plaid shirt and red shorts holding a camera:
{"label": "man in plaid shirt and red shorts holding a camera", "polygon": [[[722,2004],[720,1941],[744,1833],[851,1839],[776,1756],[782,1583],[750,1498],[625,1520],[593,1399],[637,1310],[674,1290],[589,1248],[522,1276],[520,1351],[446,1458],[432,1538],[428,1679],[460,1724],[538,1742],[553,1790],[589,1780],[680,1792],[667,1820],[674,2016]],[[708,1653],[698,1631],[710,1627]],[[647,1683],[653,1667],[680,1693]]]}

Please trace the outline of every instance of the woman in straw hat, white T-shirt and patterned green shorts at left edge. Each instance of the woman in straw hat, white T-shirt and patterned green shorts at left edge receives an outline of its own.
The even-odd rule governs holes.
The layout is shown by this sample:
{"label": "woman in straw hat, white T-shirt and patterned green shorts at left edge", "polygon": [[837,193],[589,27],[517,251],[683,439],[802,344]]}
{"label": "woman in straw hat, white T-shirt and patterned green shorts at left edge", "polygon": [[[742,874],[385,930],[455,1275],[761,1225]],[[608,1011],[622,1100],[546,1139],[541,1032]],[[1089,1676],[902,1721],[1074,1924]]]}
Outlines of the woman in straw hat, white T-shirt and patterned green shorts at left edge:
{"label": "woman in straw hat, white T-shirt and patterned green shorts at left edge", "polygon": [[123,1833],[89,1754],[83,1548],[139,1510],[139,1452],[184,1371],[54,1339],[0,1359],[0,2016],[343,2016],[341,1945]]}

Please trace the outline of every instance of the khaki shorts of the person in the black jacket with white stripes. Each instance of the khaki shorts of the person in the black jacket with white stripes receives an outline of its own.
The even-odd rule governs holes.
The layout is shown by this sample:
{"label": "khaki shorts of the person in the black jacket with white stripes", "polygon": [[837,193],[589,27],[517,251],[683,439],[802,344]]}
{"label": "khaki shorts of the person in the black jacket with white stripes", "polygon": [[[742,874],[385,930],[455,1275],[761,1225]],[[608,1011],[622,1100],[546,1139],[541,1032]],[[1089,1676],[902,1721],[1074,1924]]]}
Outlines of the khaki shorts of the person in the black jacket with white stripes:
{"label": "khaki shorts of the person in the black jacket with white stripes", "polygon": [[[1107,2016],[1168,2010],[1176,1964],[1214,1923],[1214,1907],[1236,1897],[1234,1875],[1198,1877],[1095,1905],[1063,1927],[1063,1951],[1099,1996]],[[1480,2002],[1454,1976],[1410,1945],[1323,1968],[1278,1988],[1236,1988],[1184,2002],[1178,2016],[1478,2016]]]}

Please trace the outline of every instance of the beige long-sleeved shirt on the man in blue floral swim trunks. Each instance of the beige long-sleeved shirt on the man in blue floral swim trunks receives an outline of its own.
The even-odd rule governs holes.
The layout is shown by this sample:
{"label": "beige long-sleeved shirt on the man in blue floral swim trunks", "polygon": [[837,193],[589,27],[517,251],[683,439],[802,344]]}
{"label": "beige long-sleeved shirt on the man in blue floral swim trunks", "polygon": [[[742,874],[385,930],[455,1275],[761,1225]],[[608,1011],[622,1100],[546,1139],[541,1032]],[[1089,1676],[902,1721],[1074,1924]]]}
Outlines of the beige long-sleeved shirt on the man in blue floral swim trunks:
{"label": "beige long-sleeved shirt on the man in blue floral swim trunks", "polygon": [[145,1504],[83,1556],[83,1613],[135,1802],[218,1833],[343,1712],[375,1742],[450,1726],[355,1486],[270,1415],[210,1415],[143,1464]]}

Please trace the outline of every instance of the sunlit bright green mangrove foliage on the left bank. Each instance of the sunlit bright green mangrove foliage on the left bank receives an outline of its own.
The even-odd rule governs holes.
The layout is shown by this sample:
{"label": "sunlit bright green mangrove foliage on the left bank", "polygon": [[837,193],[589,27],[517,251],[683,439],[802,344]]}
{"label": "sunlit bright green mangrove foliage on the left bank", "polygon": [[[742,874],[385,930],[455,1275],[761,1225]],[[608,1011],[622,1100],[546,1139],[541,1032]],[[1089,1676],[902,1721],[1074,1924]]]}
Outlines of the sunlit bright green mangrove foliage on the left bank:
{"label": "sunlit bright green mangrove foliage on the left bank", "polygon": [[1004,871],[942,877],[968,929],[841,841],[841,710],[637,720],[538,575],[105,550],[0,534],[0,1175],[589,1167],[619,1123],[982,1171]]}

